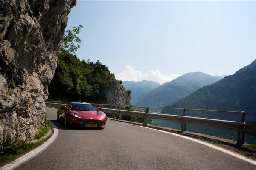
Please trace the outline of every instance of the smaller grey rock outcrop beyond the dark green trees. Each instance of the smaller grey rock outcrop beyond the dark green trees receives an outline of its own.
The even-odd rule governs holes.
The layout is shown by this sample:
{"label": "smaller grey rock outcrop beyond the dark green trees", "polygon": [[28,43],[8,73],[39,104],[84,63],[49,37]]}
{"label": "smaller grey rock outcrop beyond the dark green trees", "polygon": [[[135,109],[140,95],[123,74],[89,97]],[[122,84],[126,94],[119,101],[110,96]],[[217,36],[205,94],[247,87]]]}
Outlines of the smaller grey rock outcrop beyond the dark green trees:
{"label": "smaller grey rock outcrop beyond the dark green trees", "polygon": [[103,104],[130,105],[130,97],[122,85],[116,80],[111,82],[108,89],[105,89],[106,100]]}

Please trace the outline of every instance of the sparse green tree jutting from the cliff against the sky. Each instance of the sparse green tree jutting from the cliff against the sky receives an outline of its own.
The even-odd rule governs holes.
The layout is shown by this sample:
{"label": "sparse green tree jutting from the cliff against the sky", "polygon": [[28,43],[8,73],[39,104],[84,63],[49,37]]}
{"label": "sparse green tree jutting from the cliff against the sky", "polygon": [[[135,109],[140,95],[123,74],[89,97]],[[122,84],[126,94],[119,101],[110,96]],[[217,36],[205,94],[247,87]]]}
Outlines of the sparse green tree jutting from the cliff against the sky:
{"label": "sparse green tree jutting from the cliff against the sky", "polygon": [[81,38],[79,38],[77,35],[79,34],[81,28],[83,28],[83,26],[79,24],[78,27],[73,27],[72,30],[67,30],[65,32],[62,40],[62,50],[74,53],[80,48]]}

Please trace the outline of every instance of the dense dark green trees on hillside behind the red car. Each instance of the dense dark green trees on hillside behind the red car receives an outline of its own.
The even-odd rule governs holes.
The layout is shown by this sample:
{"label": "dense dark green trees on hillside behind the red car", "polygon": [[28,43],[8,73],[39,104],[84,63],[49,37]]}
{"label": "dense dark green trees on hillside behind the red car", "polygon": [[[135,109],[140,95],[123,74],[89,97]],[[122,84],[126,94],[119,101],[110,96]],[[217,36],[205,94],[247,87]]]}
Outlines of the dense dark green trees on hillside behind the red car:
{"label": "dense dark green trees on hillside behind the red car", "polygon": [[49,84],[49,99],[100,101],[104,90],[115,81],[115,76],[98,60],[80,61],[76,55],[62,50],[58,56],[55,76]]}

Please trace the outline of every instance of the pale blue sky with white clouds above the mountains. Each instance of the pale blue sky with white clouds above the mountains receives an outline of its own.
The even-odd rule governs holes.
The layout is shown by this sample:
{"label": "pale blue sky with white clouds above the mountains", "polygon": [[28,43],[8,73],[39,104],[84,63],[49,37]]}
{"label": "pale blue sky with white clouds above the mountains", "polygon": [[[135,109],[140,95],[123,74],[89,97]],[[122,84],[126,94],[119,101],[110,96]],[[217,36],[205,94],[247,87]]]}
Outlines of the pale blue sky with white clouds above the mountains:
{"label": "pale blue sky with white clouds above the mountains", "polygon": [[232,75],[256,59],[256,1],[84,1],[79,59],[122,81],[169,82],[188,72]]}

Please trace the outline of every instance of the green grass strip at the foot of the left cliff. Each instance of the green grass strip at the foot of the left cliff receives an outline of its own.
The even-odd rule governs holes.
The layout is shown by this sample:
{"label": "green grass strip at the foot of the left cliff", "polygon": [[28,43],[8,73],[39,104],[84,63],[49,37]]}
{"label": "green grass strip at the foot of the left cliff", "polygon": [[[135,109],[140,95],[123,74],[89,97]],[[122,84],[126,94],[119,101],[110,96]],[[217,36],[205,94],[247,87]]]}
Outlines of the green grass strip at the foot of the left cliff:
{"label": "green grass strip at the foot of the left cliff", "polygon": [[[50,121],[46,118],[46,116],[44,117],[44,122],[45,122],[45,125],[43,126],[42,130],[40,130],[40,132],[35,135],[35,139],[40,139],[41,137],[45,136],[46,133],[49,131],[49,129],[52,128],[52,125],[50,124]],[[11,161],[15,159],[16,156],[24,152],[32,150],[35,147],[38,147],[39,145],[46,142],[50,137],[51,136],[48,136],[35,143],[21,141],[19,144],[16,144],[16,143],[6,144],[6,146],[3,149],[3,153],[0,153],[0,165],[6,161]]]}

